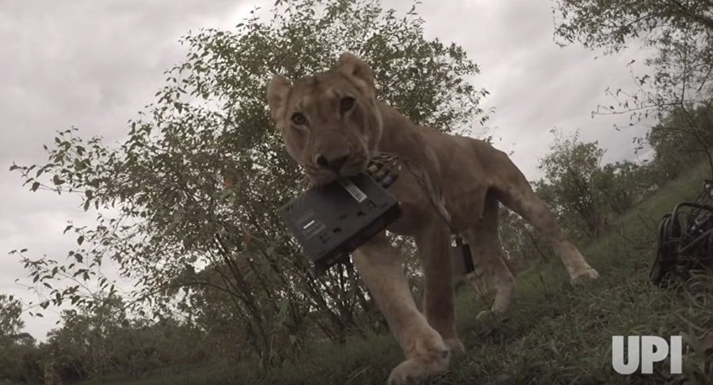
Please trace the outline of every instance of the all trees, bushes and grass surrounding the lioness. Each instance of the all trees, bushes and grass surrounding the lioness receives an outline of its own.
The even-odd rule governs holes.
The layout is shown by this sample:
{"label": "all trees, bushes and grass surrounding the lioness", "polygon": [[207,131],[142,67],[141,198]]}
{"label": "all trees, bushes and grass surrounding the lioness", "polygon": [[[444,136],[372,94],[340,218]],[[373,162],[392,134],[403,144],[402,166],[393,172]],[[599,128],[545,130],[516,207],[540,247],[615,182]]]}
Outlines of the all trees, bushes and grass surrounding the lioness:
{"label": "all trees, bushes and grass surrounding the lioness", "polygon": [[[713,168],[712,5],[663,3],[556,3],[566,42],[611,52],[639,38],[655,48],[653,78],[638,78],[635,93],[610,93],[617,107],[598,110],[629,112],[632,124],[655,113],[637,144],[655,157],[602,164],[597,142],[555,132],[534,185],[602,279],[570,287],[538,234],[504,211],[515,303],[506,320],[478,324],[490,294],[461,287],[468,353],[434,382],[650,381],[612,372],[612,334],[684,334],[683,377],[658,368],[655,378],[713,381],[713,279],[669,290],[647,283],[658,220],[710,174],[692,165]],[[462,48],[424,38],[415,8],[396,16],[376,0],[277,1],[268,20],[252,14],[231,31],[189,33],[185,60],[123,142],[65,130],[45,147],[46,164],[14,164],[31,191],[78,196],[97,221],[67,224],[77,247],[66,255],[11,252],[39,302],[0,295],[0,384],[381,384],[401,352],[358,272],[346,264],[314,276],[275,215],[302,185],[272,130],[265,85],[272,73],[307,75],[352,51],[374,70],[381,100],[415,122],[461,133],[484,125],[477,65]],[[413,245],[394,242],[411,257],[419,292]],[[108,265],[135,290],[106,275]],[[21,313],[41,317],[48,307],[63,309],[61,325],[37,344]]]}

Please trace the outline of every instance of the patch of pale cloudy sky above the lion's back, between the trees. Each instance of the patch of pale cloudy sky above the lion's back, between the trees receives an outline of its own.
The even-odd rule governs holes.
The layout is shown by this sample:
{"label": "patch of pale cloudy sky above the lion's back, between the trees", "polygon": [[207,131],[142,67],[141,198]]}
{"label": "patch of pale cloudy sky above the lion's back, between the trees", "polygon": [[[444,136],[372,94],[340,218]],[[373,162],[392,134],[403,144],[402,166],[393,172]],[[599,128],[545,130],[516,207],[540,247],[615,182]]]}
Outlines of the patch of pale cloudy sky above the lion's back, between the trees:
{"label": "patch of pale cloudy sky above the lion's back, between the trees", "polygon": [[642,53],[597,58],[600,54],[580,46],[560,48],[553,42],[553,15],[545,2],[463,0],[461,6],[424,6],[437,15],[426,17],[426,33],[455,41],[480,66],[476,82],[491,92],[484,106],[496,107],[489,122],[501,138],[495,145],[514,152],[528,179],[540,177],[538,159],[548,152],[553,128],[580,130],[583,140],[598,140],[607,149],[606,162],[633,156],[632,137],[643,135],[646,127],[619,132],[612,125],[627,117],[593,119],[590,114],[607,102],[605,88],[633,85],[625,65]]}

